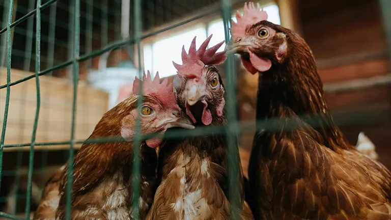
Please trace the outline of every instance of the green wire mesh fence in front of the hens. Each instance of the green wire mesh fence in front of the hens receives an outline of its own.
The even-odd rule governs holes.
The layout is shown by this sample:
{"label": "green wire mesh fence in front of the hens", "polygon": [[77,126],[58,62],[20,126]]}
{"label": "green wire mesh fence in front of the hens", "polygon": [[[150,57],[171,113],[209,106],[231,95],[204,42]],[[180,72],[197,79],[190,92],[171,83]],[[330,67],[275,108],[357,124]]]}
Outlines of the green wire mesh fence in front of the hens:
{"label": "green wire mesh fence in front of the hens", "polygon": [[[68,184],[67,184],[67,219],[70,219],[70,208],[71,208],[71,203],[70,203],[70,198],[71,198],[71,190],[70,188],[72,187],[72,164],[73,164],[73,154],[74,154],[74,145],[75,144],[82,144],[85,141],[76,141],[75,140],[75,113],[76,113],[76,96],[77,96],[77,83],[78,83],[78,75],[79,75],[79,63],[82,61],[86,61],[92,57],[99,56],[102,53],[105,53],[107,51],[110,51],[115,48],[120,48],[129,44],[136,44],[137,47],[137,53],[138,57],[140,57],[141,53],[141,47],[140,47],[140,42],[142,39],[162,33],[164,31],[176,28],[180,25],[186,24],[188,22],[191,22],[193,20],[202,18],[207,15],[211,15],[213,13],[217,13],[219,10],[222,11],[223,19],[224,19],[224,25],[225,25],[225,35],[226,35],[226,40],[229,40],[229,31],[228,28],[231,25],[231,2],[230,0],[224,0],[221,1],[221,8],[220,9],[212,9],[209,11],[205,11],[202,14],[199,14],[197,16],[194,16],[190,19],[184,20],[182,22],[176,23],[172,26],[169,26],[167,28],[163,28],[154,32],[151,32],[146,35],[142,35],[142,17],[141,17],[141,0],[134,0],[133,1],[133,25],[134,25],[134,36],[121,40],[119,42],[116,42],[114,44],[107,45],[99,50],[96,51],[91,51],[90,53],[85,54],[84,56],[80,56],[80,0],[75,0],[73,1],[73,17],[70,18],[73,22],[70,22],[70,25],[72,24],[72,32],[70,32],[70,36],[73,38],[73,42],[70,45],[72,48],[72,53],[71,53],[71,60],[66,61],[61,63],[60,65],[53,66],[51,68],[47,68],[45,70],[41,70],[40,64],[41,64],[41,56],[40,56],[40,51],[41,51],[41,11],[53,4],[56,4],[58,0],[49,0],[44,4],[41,4],[41,0],[37,1],[36,8],[33,9],[32,11],[28,12],[21,18],[17,19],[16,21],[12,22],[12,12],[13,12],[13,5],[14,1],[10,0],[8,4],[8,17],[7,17],[7,25],[6,28],[0,30],[0,34],[6,33],[6,41],[7,41],[7,84],[0,86],[0,89],[6,89],[6,103],[5,103],[5,114],[4,114],[4,120],[3,120],[3,126],[2,126],[2,135],[0,139],[0,187],[1,187],[1,178],[2,178],[2,170],[3,170],[3,149],[4,148],[14,148],[14,147],[25,147],[25,146],[30,146],[30,158],[29,158],[29,170],[28,170],[28,175],[27,175],[27,193],[26,193],[26,206],[25,206],[25,218],[18,217],[13,214],[9,213],[4,213],[0,212],[0,216],[10,218],[10,219],[29,219],[30,218],[30,209],[31,209],[31,195],[32,195],[32,175],[33,175],[33,162],[34,162],[34,147],[35,146],[49,146],[49,145],[64,145],[68,144],[70,145],[69,148],[69,170],[71,171],[69,173],[68,177]],[[22,79],[12,81],[11,80],[11,51],[12,51],[12,46],[11,46],[11,29],[14,28],[16,25],[20,24],[24,20],[28,19],[29,17],[36,16],[36,42],[35,42],[35,74],[30,75],[27,77],[24,77]],[[103,20],[103,19],[102,19]],[[32,25],[31,22],[29,22],[29,25]],[[107,43],[107,39],[103,39]],[[31,43],[31,42],[30,42]],[[30,66],[30,65],[29,65]],[[40,90],[40,78],[39,76],[45,75],[48,73],[51,73],[54,70],[61,69],[64,67],[72,67],[72,80],[73,80],[73,103],[72,103],[72,126],[71,126],[71,138],[70,141],[66,142],[57,142],[57,143],[36,143],[36,132],[37,132],[37,125],[38,125],[38,118],[40,116],[40,107],[41,107],[41,90]],[[138,72],[139,76],[142,76],[142,69],[141,69],[141,60],[138,59]],[[26,68],[27,69],[27,68]],[[230,56],[228,61],[226,62],[226,77],[227,77],[227,87],[233,87],[235,85],[235,77],[233,74],[234,70],[234,60],[233,57]],[[9,103],[10,103],[10,88],[11,86],[20,84],[21,82],[24,82],[26,80],[30,80],[35,78],[36,81],[36,89],[37,89],[37,108],[36,108],[36,114],[35,114],[35,120],[34,120],[34,125],[33,125],[33,133],[31,135],[31,142],[30,143],[22,143],[22,144],[9,144],[6,145],[5,143],[5,133],[6,133],[6,128],[7,128],[7,118],[8,118],[8,109],[9,109]],[[140,90],[142,90],[142,85],[140,86]],[[232,91],[232,92],[230,92]],[[236,118],[236,102],[235,102],[235,92],[234,90],[228,90],[227,91],[227,98],[228,98],[228,103],[227,104],[227,114],[228,117],[231,119]],[[142,98],[139,99],[138,107],[141,107],[142,104]],[[136,125],[136,135],[134,136],[134,145],[139,146],[142,140],[150,138],[154,136],[154,134],[150,135],[141,135],[139,132],[140,129],[140,122],[137,120],[137,125]],[[182,133],[168,133],[167,137],[175,137],[175,136],[198,136],[198,135],[205,135],[210,132],[211,129],[203,129],[203,130],[195,130],[190,132],[182,132]],[[215,129],[213,129],[214,132],[216,132]],[[237,157],[234,155],[234,153],[237,152],[236,146],[234,144],[234,135],[237,132],[237,126],[236,126],[236,121],[230,120],[230,124],[228,124],[227,127],[221,127],[218,129],[220,133],[227,132],[230,135],[227,135],[228,138],[228,143],[229,144],[229,167],[237,167],[238,160]],[[217,131],[218,132],[218,131]],[[94,142],[94,143],[102,143],[102,142],[113,142],[113,141],[118,141],[118,139],[113,139],[113,138],[107,138],[107,139],[100,139],[100,140],[89,140],[89,142]],[[133,148],[134,152],[134,164],[133,164],[133,191],[134,191],[134,197],[133,198],[138,198],[139,195],[139,157],[136,156],[138,155],[139,149],[137,147]],[[229,177],[233,176],[235,172],[238,172],[237,170],[234,169],[229,169]],[[237,191],[237,186],[238,184],[236,183],[236,179],[232,178],[229,183],[230,184],[230,189],[231,192],[230,195],[230,200],[232,201],[232,204],[234,206],[237,206],[237,199],[234,198],[235,191]],[[134,213],[138,213],[138,199],[133,200],[133,206],[134,206]]]}

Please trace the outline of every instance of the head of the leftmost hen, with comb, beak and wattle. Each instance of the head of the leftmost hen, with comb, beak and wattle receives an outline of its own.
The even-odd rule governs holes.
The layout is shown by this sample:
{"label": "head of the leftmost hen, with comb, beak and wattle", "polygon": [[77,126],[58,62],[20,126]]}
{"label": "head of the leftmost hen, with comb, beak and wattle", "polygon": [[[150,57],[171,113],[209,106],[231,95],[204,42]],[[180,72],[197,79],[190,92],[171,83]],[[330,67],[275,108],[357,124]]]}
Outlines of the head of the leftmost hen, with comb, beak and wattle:
{"label": "head of the leftmost hen, with comb, beak and wattle", "polygon": [[[133,93],[139,93],[140,80],[134,80]],[[183,127],[193,129],[188,116],[183,114],[182,109],[176,102],[174,88],[167,84],[165,78],[160,84],[159,73],[156,73],[152,80],[148,71],[143,77],[143,105],[141,108],[133,108],[126,117],[122,119],[121,135],[126,141],[131,141],[135,134],[136,119],[140,117],[141,132],[163,133],[171,127]],[[146,144],[151,148],[156,148],[162,143],[161,137],[146,140]]]}

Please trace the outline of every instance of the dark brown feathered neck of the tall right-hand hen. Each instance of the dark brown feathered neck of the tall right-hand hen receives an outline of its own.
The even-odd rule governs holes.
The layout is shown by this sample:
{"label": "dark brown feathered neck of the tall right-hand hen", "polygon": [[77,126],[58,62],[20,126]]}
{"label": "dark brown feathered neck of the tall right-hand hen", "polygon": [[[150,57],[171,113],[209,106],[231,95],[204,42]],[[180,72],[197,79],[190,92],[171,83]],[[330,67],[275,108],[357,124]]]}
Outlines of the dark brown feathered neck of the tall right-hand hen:
{"label": "dark brown feathered neck of the tall right-hand hen", "polygon": [[[290,108],[321,134],[325,146],[333,150],[350,149],[352,146],[330,115],[311,51],[306,47],[296,48],[300,49],[290,51],[292,54],[284,64],[273,65],[260,73],[257,120],[285,117],[282,109]],[[310,59],[302,58],[301,54],[307,54]]]}

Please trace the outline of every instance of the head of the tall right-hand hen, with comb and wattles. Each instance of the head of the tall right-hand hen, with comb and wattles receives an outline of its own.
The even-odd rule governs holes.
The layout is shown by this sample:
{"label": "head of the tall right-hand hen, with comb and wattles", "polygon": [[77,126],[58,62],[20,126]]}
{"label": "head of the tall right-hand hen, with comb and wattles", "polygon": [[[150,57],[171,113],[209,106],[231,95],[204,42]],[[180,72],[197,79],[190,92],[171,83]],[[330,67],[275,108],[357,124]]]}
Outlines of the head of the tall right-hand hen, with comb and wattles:
{"label": "head of the tall right-hand hen, with comb and wattles", "polygon": [[236,19],[232,21],[227,53],[239,53],[243,66],[253,74],[268,71],[272,63],[284,63],[288,50],[284,32],[288,30],[267,21],[267,13],[259,4],[245,4],[243,15],[236,12]]}

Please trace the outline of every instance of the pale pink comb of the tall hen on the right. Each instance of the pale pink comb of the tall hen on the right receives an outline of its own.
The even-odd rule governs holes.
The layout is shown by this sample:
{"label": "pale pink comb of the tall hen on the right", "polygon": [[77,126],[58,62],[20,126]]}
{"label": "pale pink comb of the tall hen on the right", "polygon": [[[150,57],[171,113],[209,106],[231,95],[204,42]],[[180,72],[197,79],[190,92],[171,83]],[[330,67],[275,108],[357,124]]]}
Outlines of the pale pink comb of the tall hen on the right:
{"label": "pale pink comb of the tall hen on the right", "polygon": [[231,35],[234,38],[244,36],[248,25],[254,25],[260,21],[267,20],[267,13],[261,9],[259,3],[255,7],[254,3],[244,3],[243,15],[236,11],[236,20],[232,20]]}

